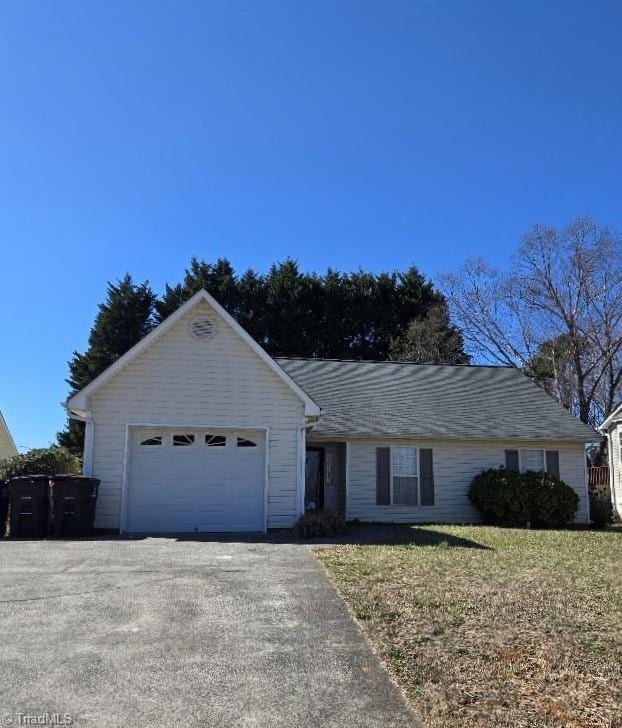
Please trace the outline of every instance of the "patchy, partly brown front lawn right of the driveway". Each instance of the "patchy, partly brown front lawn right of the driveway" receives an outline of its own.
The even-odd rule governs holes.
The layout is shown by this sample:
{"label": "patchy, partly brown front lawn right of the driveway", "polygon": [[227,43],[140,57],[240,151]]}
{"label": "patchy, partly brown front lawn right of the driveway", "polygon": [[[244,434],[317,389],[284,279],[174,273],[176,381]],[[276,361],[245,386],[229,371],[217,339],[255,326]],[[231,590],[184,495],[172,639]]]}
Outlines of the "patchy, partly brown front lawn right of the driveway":
{"label": "patchy, partly brown front lawn right of the driveway", "polygon": [[622,726],[622,529],[318,550],[425,726]]}

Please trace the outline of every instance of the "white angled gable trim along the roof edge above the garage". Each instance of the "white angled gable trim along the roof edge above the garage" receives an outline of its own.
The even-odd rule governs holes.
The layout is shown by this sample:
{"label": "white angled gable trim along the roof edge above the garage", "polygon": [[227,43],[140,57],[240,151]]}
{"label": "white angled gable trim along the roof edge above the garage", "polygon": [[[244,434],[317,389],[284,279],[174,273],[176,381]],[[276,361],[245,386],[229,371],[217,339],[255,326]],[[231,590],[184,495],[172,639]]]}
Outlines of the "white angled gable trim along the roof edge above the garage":
{"label": "white angled gable trim along the roof edge above the garage", "polygon": [[321,410],[319,406],[309,397],[309,395],[301,389],[296,382],[282,369],[274,359],[248,334],[240,324],[227,313],[225,309],[216,301],[206,290],[201,289],[182,304],[174,313],[172,313],[167,319],[165,319],[159,326],[156,326],[153,331],[150,331],[147,336],[141,339],[135,344],[129,351],[127,351],[122,357],[119,357],[117,361],[103,371],[98,377],[87,384],[84,389],[80,390],[73,397],[70,397],[65,403],[67,410],[80,411],[88,409],[88,398],[108,382],[114,375],[127,366],[133,361],[139,354],[142,354],[147,348],[155,343],[163,334],[165,334],[182,316],[184,316],[191,308],[196,306],[198,303],[205,302],[209,304],[215,313],[228,324],[233,331],[246,343],[248,346],[259,356],[259,358],[268,365],[268,367],[281,379],[289,389],[294,392],[305,405],[305,414],[307,416],[319,416]]}

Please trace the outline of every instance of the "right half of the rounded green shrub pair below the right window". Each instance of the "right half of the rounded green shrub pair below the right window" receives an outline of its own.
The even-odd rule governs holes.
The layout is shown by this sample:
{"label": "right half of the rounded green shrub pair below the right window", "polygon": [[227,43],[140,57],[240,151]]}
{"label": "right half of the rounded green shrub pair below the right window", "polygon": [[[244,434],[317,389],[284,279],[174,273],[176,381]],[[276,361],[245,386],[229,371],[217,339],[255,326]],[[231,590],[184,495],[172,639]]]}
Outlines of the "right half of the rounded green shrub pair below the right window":
{"label": "right half of the rounded green shrub pair below the right window", "polygon": [[522,475],[527,491],[529,520],[536,528],[563,528],[574,518],[579,496],[549,473],[528,471]]}

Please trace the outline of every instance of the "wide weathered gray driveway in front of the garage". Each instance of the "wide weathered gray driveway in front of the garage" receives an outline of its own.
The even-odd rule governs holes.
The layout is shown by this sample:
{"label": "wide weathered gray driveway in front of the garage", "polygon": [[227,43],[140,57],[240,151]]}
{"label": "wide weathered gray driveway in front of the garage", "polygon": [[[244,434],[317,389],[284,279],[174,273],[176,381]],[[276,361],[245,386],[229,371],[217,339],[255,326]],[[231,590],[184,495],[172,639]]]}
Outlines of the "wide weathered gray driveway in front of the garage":
{"label": "wide weathered gray driveway in front of the garage", "polygon": [[4,541],[0,629],[0,725],[416,725],[301,545]]}

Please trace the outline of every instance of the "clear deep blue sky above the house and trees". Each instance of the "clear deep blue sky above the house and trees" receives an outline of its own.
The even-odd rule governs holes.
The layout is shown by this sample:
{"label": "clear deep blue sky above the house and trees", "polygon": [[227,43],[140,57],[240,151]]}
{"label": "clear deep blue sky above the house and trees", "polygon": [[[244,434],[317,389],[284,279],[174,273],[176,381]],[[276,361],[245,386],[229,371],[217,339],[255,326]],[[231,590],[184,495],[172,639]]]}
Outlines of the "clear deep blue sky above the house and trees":
{"label": "clear deep blue sky above the house and trees", "polygon": [[534,222],[620,224],[622,6],[0,3],[0,409],[63,425],[106,281],[503,265]]}

